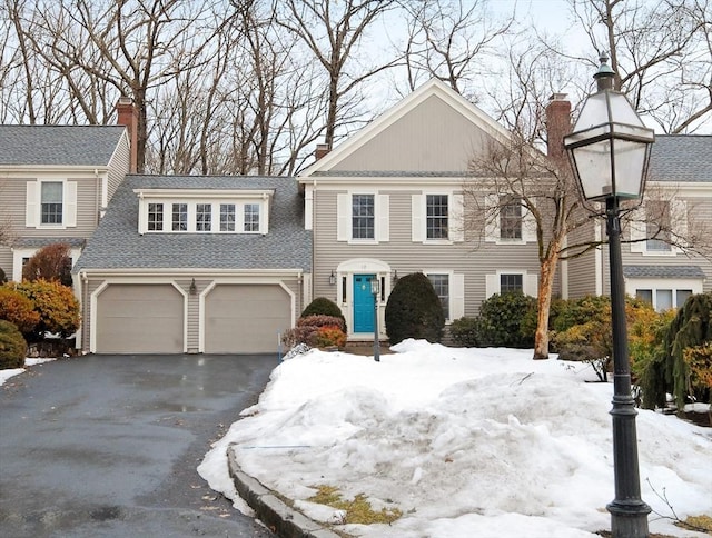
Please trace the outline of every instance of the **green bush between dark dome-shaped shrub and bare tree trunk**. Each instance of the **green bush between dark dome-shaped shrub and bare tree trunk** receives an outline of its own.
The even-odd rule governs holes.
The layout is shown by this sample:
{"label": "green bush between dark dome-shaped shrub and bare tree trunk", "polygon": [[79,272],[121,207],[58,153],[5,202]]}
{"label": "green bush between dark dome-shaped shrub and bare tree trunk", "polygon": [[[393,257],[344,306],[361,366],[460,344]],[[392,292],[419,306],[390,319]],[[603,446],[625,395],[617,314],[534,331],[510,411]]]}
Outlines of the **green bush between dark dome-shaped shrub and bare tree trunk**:
{"label": "green bush between dark dome-shaped shrub and bare tree trunk", "polygon": [[479,307],[477,338],[481,346],[531,348],[534,332],[523,330],[527,313],[536,311],[536,299],[521,291],[495,293]]}

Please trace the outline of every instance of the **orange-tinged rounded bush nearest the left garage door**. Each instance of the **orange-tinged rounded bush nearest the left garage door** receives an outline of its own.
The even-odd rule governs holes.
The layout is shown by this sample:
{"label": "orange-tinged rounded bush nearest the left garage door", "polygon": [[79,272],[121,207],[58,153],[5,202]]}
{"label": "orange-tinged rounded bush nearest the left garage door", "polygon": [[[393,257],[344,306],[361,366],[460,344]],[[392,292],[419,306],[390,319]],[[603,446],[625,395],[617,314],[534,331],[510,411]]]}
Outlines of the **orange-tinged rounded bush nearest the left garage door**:
{"label": "orange-tinged rounded bush nearest the left garage door", "polygon": [[41,340],[44,332],[67,338],[79,328],[79,301],[71,288],[58,281],[36,280],[13,285],[18,292],[27,297],[40,321],[34,327],[31,338]]}

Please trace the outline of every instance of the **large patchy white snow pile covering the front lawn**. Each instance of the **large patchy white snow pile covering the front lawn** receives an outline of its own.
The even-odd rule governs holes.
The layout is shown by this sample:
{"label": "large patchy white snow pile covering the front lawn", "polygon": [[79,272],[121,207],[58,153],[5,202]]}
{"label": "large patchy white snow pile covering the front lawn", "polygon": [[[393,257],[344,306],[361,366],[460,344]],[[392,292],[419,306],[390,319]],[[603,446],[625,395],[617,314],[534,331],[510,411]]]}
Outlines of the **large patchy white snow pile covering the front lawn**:
{"label": "large patchy white snow pile covering the front lawn", "polygon": [[[345,525],[364,537],[594,537],[613,500],[612,385],[581,363],[534,361],[531,350],[455,349],[406,340],[373,357],[312,350],[281,362],[198,467],[238,509],[227,470],[243,470],[322,521],[307,501],[320,485],[374,509],[387,525]],[[651,531],[712,515],[712,429],[640,410],[642,497]],[[664,500],[668,499],[668,501]],[[668,505],[670,504],[670,506]]]}

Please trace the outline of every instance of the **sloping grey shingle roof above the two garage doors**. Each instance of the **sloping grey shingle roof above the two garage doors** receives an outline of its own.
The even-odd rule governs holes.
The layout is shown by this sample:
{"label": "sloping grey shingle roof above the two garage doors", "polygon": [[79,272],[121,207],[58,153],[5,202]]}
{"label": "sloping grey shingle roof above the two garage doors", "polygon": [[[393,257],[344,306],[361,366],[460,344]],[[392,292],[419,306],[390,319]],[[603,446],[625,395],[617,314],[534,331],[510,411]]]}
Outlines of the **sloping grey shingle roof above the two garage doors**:
{"label": "sloping grey shingle roof above the two garage doors", "polygon": [[[269,232],[138,233],[134,189],[274,189]],[[83,269],[287,269],[312,267],[304,199],[286,177],[127,176],[73,271]]]}

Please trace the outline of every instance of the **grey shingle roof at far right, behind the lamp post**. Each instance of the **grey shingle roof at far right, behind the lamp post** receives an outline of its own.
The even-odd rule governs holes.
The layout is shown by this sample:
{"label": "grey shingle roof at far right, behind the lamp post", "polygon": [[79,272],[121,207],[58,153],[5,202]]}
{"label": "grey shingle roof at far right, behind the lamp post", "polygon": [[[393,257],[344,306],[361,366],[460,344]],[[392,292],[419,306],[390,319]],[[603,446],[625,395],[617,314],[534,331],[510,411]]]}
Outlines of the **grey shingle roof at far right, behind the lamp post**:
{"label": "grey shingle roof at far right, behind the lamp post", "polygon": [[647,179],[712,182],[712,136],[656,134]]}

